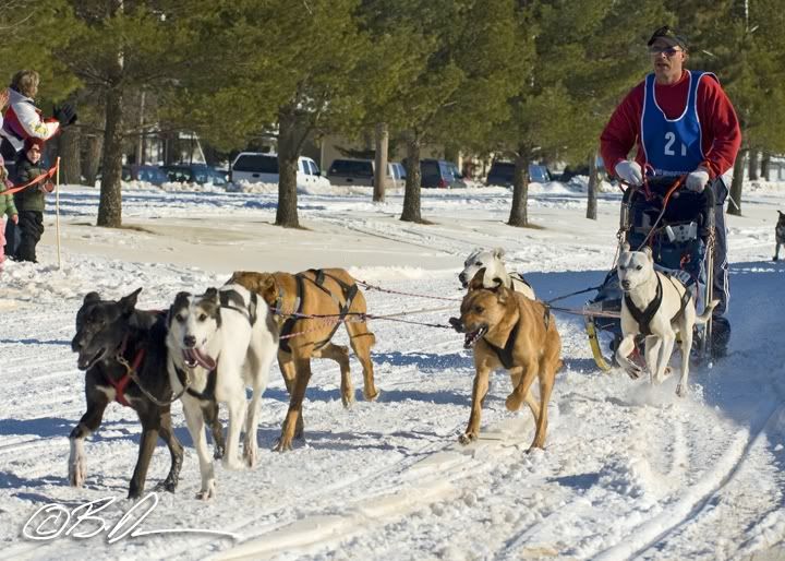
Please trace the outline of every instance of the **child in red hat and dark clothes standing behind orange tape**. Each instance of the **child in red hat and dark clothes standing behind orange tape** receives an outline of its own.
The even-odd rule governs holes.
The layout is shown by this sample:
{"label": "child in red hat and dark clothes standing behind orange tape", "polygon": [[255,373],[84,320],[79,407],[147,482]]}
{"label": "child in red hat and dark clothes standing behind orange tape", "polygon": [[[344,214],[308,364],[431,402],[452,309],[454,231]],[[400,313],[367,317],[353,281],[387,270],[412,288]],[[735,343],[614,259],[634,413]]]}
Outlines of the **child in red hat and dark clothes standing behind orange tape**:
{"label": "child in red hat and dark clothes standing behind orange tape", "polygon": [[[14,184],[22,186],[38,176],[46,174],[41,165],[44,141],[28,138],[24,141],[22,152],[16,159]],[[20,239],[19,247],[13,251],[12,259],[37,263],[36,246],[44,234],[45,194],[55,189],[51,181],[44,181],[14,193],[14,204],[19,211]],[[11,241],[11,240],[9,240]]]}

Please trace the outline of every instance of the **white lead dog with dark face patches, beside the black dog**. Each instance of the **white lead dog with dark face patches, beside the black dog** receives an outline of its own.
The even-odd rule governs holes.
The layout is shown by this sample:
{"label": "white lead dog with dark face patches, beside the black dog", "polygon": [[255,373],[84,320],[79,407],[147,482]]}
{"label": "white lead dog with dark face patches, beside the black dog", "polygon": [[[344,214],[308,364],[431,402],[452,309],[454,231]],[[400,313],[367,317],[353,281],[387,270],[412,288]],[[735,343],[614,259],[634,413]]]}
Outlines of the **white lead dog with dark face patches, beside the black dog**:
{"label": "white lead dog with dark face patches, beside the black dog", "polygon": [[278,353],[278,330],[268,307],[240,285],[208,288],[202,296],[180,293],[169,309],[167,335],[169,379],[182,394],[183,413],[200,458],[202,489],[198,499],[215,496],[213,458],[205,438],[207,404],[226,403],[229,409],[224,464],[238,469],[240,429],[246,413],[245,386],[253,389],[243,456],[256,462],[258,403]]}

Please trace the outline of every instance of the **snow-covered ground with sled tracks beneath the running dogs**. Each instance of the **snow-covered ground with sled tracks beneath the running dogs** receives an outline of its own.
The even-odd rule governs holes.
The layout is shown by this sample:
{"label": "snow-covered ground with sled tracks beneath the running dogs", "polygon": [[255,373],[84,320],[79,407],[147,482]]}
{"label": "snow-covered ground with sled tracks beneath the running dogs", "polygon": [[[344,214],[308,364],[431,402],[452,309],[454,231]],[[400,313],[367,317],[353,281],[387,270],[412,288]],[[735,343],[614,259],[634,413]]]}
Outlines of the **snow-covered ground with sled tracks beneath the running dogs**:
{"label": "snow-covered ground with sled tracks beneath the running dogs", "polygon": [[[729,217],[730,354],[711,370],[692,371],[688,397],[675,396],[673,379],[651,387],[601,372],[582,319],[557,313],[565,368],[546,450],[526,453],[530,414],[505,409],[510,383],[503,372],[492,379],[483,438],[463,447],[457,437],[469,418],[473,368],[462,337],[376,320],[381,399],[362,401],[352,358],[358,402],[345,409],[337,367],[315,361],[304,404],[306,441],[274,453],[288,405],[274,367],[262,401],[261,461],[243,472],[218,464],[218,496],[210,502],[194,499],[198,466],[176,404],[177,435],[185,445],[180,487],[156,496],[140,528],[177,532],[116,539],[120,529],[110,530],[134,506],[124,499],[140,439],[131,409],[107,409],[87,440],[84,488],[68,485],[68,434],[84,413],[84,374],[70,341],[86,293],[117,298],[141,286],[140,307],[160,309],[177,291],[220,285],[234,270],[345,266],[367,283],[407,293],[366,291],[372,313],[451,307],[409,317],[444,324],[457,314],[456,275],[475,247],[504,247],[509,268],[524,272],[542,299],[597,285],[616,249],[618,194],[602,194],[600,219],[588,220],[575,186],[533,184],[529,212],[538,228],[529,229],[504,224],[506,189],[424,190],[430,226],[398,220],[401,193],[384,204],[373,204],[364,189],[301,193],[303,230],[271,226],[275,189],[246,191],[129,186],[126,228],[116,230],[93,226],[97,189],[67,186],[61,267],[53,212],[45,219],[40,263],[7,262],[0,277],[0,558],[785,557],[785,265],[771,261],[785,183],[747,184],[745,216]],[[338,342],[347,342],[342,330]],[[168,468],[161,445],[147,489]],[[86,508],[65,513],[104,498],[116,500],[71,529]],[[61,506],[39,512],[52,503]],[[60,517],[41,525],[47,513]],[[46,529],[62,534],[31,539],[39,525],[39,538]]]}

